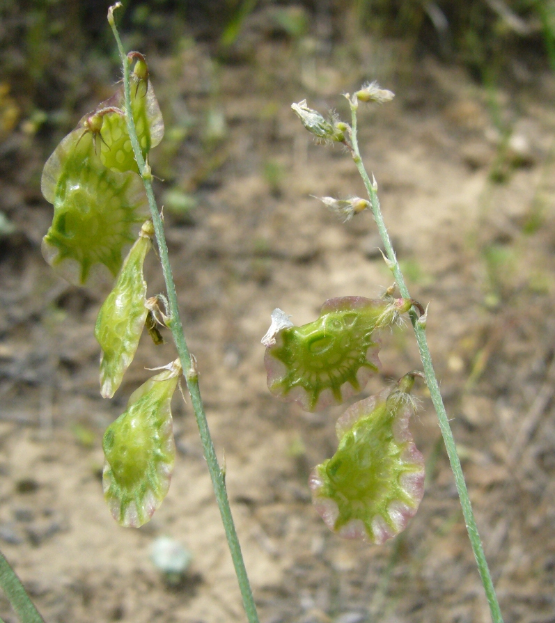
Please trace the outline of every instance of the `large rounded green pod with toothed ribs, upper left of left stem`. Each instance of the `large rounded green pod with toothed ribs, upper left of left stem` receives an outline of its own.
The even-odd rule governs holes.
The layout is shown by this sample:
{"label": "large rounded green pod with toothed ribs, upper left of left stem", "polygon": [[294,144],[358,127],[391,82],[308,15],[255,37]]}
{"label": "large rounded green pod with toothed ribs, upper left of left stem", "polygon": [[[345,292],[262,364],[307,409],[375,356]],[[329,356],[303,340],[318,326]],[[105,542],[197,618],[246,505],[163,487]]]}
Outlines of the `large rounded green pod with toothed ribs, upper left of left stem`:
{"label": "large rounded green pod with toothed ribs, upper left of left stem", "polygon": [[95,139],[83,128],[73,130],[42,173],[42,194],[54,204],[42,255],[75,285],[116,277],[123,251],[134,242],[148,210],[141,179],[106,168]]}

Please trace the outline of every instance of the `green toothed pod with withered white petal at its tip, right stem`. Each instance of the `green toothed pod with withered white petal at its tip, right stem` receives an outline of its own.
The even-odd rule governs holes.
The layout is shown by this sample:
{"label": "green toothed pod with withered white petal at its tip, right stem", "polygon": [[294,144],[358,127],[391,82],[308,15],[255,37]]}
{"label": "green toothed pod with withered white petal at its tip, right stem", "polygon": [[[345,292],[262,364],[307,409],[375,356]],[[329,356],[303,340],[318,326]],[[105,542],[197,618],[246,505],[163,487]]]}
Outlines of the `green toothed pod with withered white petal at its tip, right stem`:
{"label": "green toothed pod with withered white petal at its tip, right stem", "polygon": [[410,306],[409,299],[329,299],[318,320],[271,336],[275,343],[264,360],[269,391],[305,411],[341,404],[380,369],[375,329],[389,326]]}

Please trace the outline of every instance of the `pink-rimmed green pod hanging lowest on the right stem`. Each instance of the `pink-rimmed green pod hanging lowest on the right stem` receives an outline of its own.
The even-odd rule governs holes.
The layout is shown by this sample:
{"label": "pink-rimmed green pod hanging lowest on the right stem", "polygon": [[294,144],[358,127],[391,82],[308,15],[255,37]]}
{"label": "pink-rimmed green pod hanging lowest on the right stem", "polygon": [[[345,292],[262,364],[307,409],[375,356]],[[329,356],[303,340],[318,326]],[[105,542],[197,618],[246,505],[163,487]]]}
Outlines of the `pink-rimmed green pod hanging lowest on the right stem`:
{"label": "pink-rimmed green pod hanging lowest on the right stem", "polygon": [[386,390],[352,405],[339,418],[331,459],[308,480],[316,510],[347,539],[382,544],[407,526],[424,492],[424,459],[412,442],[414,411],[407,374]]}

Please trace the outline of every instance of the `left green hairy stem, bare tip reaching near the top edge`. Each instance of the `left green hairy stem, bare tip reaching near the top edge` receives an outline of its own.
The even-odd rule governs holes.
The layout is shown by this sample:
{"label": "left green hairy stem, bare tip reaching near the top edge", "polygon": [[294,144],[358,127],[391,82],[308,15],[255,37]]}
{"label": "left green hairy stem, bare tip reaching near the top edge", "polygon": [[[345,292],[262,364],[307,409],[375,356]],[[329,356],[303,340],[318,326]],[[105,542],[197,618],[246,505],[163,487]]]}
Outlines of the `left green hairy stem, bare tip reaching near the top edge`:
{"label": "left green hairy stem, bare tip reaching near the top edge", "polygon": [[[226,491],[225,473],[221,470],[216,452],[214,450],[214,443],[212,443],[212,437],[210,436],[210,429],[208,427],[208,421],[204,411],[203,400],[201,398],[201,390],[198,386],[198,372],[196,371],[196,361],[194,357],[191,357],[187,342],[185,341],[185,333],[181,318],[179,315],[178,297],[175,294],[175,283],[173,281],[173,274],[171,271],[171,265],[168,257],[168,247],[166,245],[166,237],[164,235],[164,223],[162,217],[158,212],[156,199],[153,192],[152,174],[150,173],[150,166],[146,164],[141,147],[139,145],[139,139],[136,136],[136,129],[134,119],[131,110],[131,89],[130,89],[130,61],[125,54],[123,45],[118,34],[118,30],[114,24],[114,18],[111,15],[111,11],[108,13],[108,19],[112,31],[114,31],[114,37],[118,44],[118,50],[120,52],[121,60],[123,63],[123,88],[125,93],[125,118],[127,120],[127,129],[129,131],[133,152],[135,155],[136,163],[139,166],[139,173],[143,178],[143,183],[146,189],[146,196],[148,198],[148,205],[150,207],[150,214],[152,215],[154,229],[156,234],[156,240],[158,244],[158,251],[160,255],[160,262],[162,264],[162,270],[164,271],[164,279],[166,281],[166,290],[168,295],[168,310],[169,320],[166,324],[171,329],[175,347],[178,351],[178,355],[181,360],[185,379],[187,380],[187,388],[191,395],[191,404],[194,409],[196,423],[198,425],[198,432],[201,436],[201,442],[203,445],[204,456],[206,463],[208,464],[208,471],[210,472],[210,478],[212,478],[212,486],[214,487],[214,494],[218,503],[219,511],[221,514],[221,521],[224,523],[224,530],[226,532],[226,538],[228,541],[231,558],[235,567],[235,574],[237,575],[237,581],[241,591],[243,599],[243,606],[247,613],[247,619],[249,623],[258,623],[258,614],[256,612],[256,606],[251,591],[251,585],[249,583],[249,577],[247,576],[247,569],[244,566],[244,560],[241,553],[241,546],[239,539],[237,538],[237,531],[235,530],[235,523],[233,523],[233,516],[229,506],[228,495]],[[110,19],[111,18],[111,19]]]}

